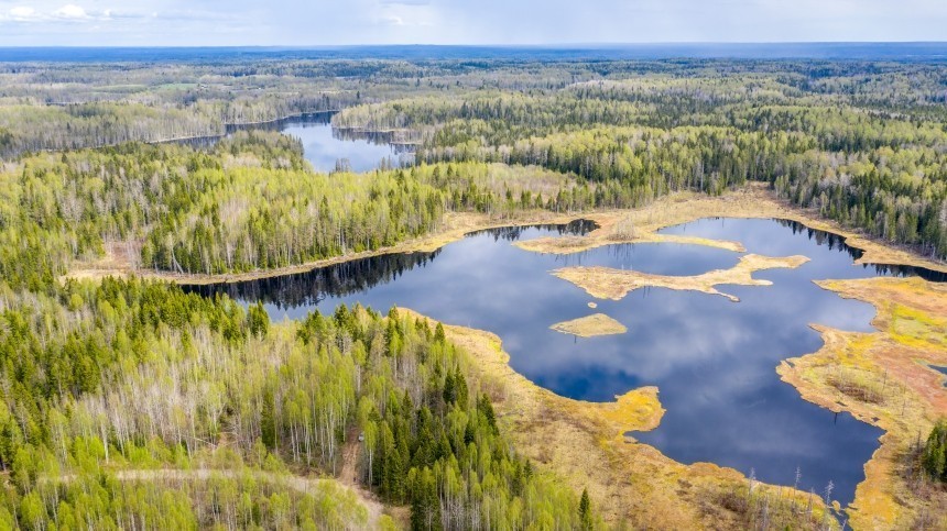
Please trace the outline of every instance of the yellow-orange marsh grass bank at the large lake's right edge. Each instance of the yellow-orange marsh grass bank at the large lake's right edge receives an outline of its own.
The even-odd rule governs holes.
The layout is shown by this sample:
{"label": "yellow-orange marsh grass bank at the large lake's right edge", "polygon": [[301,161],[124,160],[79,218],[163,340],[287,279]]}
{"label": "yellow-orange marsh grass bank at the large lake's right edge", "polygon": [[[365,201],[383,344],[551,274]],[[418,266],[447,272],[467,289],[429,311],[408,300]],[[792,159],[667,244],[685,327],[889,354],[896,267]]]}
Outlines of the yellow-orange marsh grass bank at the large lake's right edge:
{"label": "yellow-orange marsh grass bank at the large lake's right edge", "polygon": [[[885,430],[866,464],[866,480],[851,506],[853,529],[908,529],[926,515],[933,529],[947,529],[947,495],[919,495],[908,485],[905,455],[947,414],[943,376],[928,365],[947,365],[943,334],[947,287],[919,278],[872,278],[818,283],[842,297],[878,308],[878,332],[815,327],[825,346],[783,362],[777,372],[803,398],[832,411],[849,411]],[[939,520],[938,520],[939,518]]]}

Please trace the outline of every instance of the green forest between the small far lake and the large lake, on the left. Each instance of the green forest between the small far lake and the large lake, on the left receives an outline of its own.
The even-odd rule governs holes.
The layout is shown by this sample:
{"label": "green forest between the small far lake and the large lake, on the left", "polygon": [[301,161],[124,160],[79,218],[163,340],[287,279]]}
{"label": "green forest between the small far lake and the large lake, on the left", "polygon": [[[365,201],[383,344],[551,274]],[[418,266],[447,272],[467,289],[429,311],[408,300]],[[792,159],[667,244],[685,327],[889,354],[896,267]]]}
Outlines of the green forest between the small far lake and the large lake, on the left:
{"label": "green forest between the small far lake and the large lake, on the left", "polygon": [[0,173],[0,274],[39,288],[110,251],[131,268],[217,274],[290,266],[426,234],[448,211],[591,204],[536,168],[418,166],[314,174],[298,141],[241,132],[213,152],[124,144],[29,157]]}

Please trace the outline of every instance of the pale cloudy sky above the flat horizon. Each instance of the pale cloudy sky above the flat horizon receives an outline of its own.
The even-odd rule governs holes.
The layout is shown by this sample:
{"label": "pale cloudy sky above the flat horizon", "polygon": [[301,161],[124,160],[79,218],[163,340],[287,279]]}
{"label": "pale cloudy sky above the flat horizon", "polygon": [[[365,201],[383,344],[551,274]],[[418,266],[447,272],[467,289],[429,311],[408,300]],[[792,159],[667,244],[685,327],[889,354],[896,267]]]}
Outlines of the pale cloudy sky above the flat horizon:
{"label": "pale cloudy sky above the flat horizon", "polygon": [[0,0],[0,46],[947,41],[947,0]]}

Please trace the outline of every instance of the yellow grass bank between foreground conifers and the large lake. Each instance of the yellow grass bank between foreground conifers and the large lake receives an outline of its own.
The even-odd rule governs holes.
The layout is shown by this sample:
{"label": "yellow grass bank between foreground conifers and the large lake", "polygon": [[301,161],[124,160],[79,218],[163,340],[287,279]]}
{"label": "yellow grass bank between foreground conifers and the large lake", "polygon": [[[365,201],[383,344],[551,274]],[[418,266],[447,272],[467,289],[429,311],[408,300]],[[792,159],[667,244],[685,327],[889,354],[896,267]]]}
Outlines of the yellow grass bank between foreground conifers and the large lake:
{"label": "yellow grass bank between foreground conifers and the large lake", "polygon": [[[684,465],[624,435],[658,425],[664,409],[657,388],[633,389],[605,403],[572,400],[513,370],[494,334],[450,325],[445,331],[470,356],[475,390],[490,395],[516,451],[575,490],[587,488],[607,523],[631,529],[743,528],[720,501],[745,488],[742,474],[710,463]],[[808,498],[790,488],[756,488],[773,499],[797,500],[799,507]],[[823,510],[816,500],[816,518]]]}

